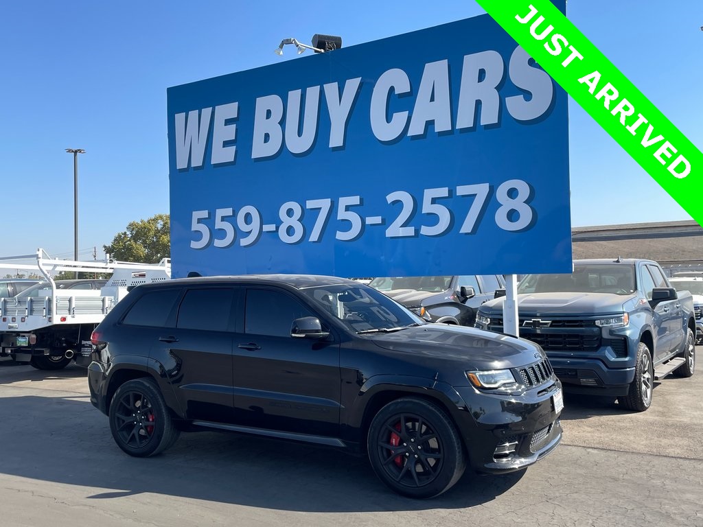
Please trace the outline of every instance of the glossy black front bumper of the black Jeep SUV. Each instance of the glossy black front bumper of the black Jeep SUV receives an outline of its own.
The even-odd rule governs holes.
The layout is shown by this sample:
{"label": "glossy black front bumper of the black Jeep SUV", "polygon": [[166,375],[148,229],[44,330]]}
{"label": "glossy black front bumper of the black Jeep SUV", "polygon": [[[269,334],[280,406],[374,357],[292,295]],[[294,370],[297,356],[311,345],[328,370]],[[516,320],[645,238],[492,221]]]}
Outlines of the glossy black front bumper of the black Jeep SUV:
{"label": "glossy black front bumper of the black Jeep SUV", "polygon": [[458,419],[470,464],[479,472],[501,474],[529,467],[553,452],[562,439],[560,411],[555,396],[559,381],[520,396],[479,392],[470,386],[456,389],[466,402],[465,418]]}

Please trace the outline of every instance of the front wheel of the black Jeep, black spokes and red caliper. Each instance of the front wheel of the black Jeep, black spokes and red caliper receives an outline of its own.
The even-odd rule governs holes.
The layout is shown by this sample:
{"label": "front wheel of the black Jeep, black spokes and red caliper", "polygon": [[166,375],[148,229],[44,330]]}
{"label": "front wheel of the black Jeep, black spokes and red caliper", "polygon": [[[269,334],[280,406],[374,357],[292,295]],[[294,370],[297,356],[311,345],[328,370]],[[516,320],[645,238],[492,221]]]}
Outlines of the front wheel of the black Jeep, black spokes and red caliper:
{"label": "front wheel of the black Jeep, black spokes and red caliper", "polygon": [[368,458],[396,493],[429,498],[449,490],[466,467],[456,427],[439,406],[416,398],[388,403],[373,417]]}

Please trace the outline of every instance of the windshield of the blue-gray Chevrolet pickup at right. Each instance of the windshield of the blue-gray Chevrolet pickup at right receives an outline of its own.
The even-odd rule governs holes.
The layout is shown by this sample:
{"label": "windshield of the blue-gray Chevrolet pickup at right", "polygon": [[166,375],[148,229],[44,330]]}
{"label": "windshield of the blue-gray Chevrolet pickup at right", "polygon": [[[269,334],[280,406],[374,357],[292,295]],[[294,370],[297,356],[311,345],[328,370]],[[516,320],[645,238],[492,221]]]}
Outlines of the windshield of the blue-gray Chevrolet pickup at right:
{"label": "windshield of the blue-gray Chevrolet pickup at right", "polygon": [[517,293],[609,293],[635,291],[635,268],[622,264],[584,264],[574,266],[570,275],[527,275],[520,280]]}

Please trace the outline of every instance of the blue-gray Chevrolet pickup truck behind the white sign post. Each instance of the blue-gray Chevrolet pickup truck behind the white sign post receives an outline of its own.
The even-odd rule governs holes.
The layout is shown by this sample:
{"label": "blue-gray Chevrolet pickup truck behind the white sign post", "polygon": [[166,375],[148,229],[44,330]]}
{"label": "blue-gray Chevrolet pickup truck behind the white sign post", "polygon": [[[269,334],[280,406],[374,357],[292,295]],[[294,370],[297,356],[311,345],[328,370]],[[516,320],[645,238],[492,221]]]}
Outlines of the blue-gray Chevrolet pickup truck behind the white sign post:
{"label": "blue-gray Chevrolet pickup truck behind the white sign post", "polygon": [[[576,260],[571,275],[527,275],[517,293],[520,337],[542,346],[565,391],[641,412],[655,379],[693,375],[691,294],[654,261]],[[482,304],[476,327],[503,332],[503,299]]]}

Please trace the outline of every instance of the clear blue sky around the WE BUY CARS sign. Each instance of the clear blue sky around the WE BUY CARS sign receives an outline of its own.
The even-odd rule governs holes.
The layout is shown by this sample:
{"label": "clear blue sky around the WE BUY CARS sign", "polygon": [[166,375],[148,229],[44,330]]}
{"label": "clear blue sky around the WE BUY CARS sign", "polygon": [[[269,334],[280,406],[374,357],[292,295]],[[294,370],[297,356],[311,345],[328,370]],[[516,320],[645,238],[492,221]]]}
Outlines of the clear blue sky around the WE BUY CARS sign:
{"label": "clear blue sky around the WE BUY CARS sign", "polygon": [[[399,7],[402,6],[402,7]],[[472,0],[403,3],[11,2],[0,22],[0,256],[98,257],[127,223],[169,212],[166,89],[280,60],[281,39],[344,46],[484,13]],[[703,148],[703,1],[569,0],[567,15]],[[441,43],[424,43],[441,46]],[[690,216],[578,105],[569,104],[573,226]],[[703,199],[703,198],[702,198]]]}

